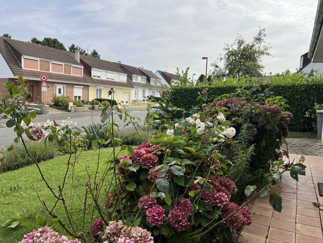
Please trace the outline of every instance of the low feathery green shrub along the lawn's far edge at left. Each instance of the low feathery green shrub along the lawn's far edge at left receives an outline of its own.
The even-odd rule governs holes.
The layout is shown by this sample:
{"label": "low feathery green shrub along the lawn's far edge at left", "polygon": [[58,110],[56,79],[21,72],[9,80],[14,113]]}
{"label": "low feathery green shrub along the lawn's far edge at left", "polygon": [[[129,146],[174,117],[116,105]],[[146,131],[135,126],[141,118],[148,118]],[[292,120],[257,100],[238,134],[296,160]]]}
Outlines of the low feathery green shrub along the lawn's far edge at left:
{"label": "low feathery green shrub along the lawn's far edge at left", "polygon": [[[54,144],[45,145],[44,142],[29,142],[26,143],[29,153],[36,159],[37,162],[46,161],[59,155],[59,152]],[[22,144],[16,149],[5,152],[5,161],[3,163],[3,171],[15,170],[27,165],[33,164],[33,160],[27,155]]]}

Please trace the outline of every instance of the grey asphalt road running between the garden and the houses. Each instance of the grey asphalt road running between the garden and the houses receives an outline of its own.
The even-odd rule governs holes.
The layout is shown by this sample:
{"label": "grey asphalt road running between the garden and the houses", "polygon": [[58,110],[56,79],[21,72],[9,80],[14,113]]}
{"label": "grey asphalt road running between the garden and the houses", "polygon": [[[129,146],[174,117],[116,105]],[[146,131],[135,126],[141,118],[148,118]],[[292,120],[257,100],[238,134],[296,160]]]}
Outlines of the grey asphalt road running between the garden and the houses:
{"label": "grey asphalt road running between the garden and the houses", "polygon": [[[129,113],[132,116],[139,117],[141,121],[140,124],[143,124],[143,121],[146,117],[146,108],[131,108],[129,109]],[[100,122],[101,111],[88,111],[88,112],[65,112],[59,114],[47,114],[47,115],[38,115],[35,119],[32,120],[32,123],[36,125],[40,123],[43,125],[47,122],[47,120],[53,121],[56,120],[58,123],[62,120],[69,120],[73,122],[77,122],[79,126],[86,126],[91,123],[99,123]],[[137,120],[138,121],[138,120]],[[13,131],[13,128],[5,127],[6,120],[0,121],[0,148],[9,147],[14,143],[14,139],[16,137],[16,133]],[[119,117],[116,117],[116,123],[120,126],[122,130],[128,130],[132,127],[128,126],[123,128],[124,122],[120,121]]]}

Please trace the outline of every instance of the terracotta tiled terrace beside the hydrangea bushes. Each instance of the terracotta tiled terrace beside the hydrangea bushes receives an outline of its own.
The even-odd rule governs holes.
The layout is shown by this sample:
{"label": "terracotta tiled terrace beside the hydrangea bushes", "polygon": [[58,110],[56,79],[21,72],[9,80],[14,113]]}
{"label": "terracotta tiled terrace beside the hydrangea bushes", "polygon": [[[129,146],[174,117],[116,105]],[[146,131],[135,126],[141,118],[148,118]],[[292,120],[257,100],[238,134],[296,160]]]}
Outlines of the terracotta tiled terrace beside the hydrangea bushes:
{"label": "terracotta tiled terrace beside the hydrangea bushes", "polygon": [[[298,162],[300,155],[291,154],[290,161]],[[296,163],[296,162],[295,162]],[[279,184],[283,209],[273,211],[269,205],[269,195],[257,198],[248,205],[251,207],[253,223],[246,226],[239,243],[323,243],[323,207],[312,202],[322,203],[318,194],[318,182],[323,182],[323,156],[305,156],[306,175],[298,175],[299,181],[284,173]]]}

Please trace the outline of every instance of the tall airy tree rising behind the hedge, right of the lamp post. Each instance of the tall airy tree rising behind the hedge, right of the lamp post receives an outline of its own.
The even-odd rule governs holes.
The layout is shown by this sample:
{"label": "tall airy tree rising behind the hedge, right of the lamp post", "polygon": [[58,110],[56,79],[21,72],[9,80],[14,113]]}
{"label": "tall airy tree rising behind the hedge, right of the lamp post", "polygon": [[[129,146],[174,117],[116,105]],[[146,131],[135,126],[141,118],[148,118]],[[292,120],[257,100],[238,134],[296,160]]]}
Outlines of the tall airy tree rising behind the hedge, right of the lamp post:
{"label": "tall airy tree rising behind the hedge, right of the lamp post", "polygon": [[211,66],[212,76],[233,76],[239,77],[249,75],[251,77],[263,76],[264,66],[263,58],[272,56],[269,52],[271,46],[265,41],[265,29],[259,27],[258,33],[254,36],[253,41],[246,42],[238,34],[234,42],[230,45],[224,44],[224,54],[220,54]]}

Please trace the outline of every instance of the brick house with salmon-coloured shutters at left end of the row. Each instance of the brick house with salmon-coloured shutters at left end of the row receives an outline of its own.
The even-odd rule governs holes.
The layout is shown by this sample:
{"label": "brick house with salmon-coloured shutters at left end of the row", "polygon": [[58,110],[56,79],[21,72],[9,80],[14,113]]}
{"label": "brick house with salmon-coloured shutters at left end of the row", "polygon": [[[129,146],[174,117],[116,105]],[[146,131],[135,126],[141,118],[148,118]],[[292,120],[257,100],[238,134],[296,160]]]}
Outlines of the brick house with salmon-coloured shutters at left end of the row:
{"label": "brick house with salmon-coloured shutters at left end of the row", "polygon": [[55,95],[89,100],[89,84],[93,80],[79,62],[79,52],[70,53],[30,42],[0,38],[0,93],[3,83],[14,82],[19,75],[29,80],[32,102],[43,102],[40,75],[48,76],[45,102]]}

